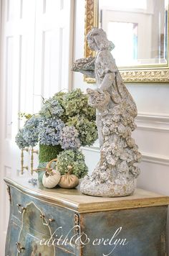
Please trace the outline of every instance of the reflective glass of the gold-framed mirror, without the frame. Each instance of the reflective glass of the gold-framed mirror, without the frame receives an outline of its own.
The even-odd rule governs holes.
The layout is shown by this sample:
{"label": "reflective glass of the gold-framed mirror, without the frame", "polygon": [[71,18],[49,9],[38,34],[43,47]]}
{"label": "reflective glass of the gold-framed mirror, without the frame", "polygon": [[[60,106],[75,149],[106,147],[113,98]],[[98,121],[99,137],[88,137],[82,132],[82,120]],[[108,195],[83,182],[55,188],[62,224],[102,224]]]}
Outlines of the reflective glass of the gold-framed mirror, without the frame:
{"label": "reflective glass of the gold-framed mirror, without the frame", "polygon": [[118,67],[168,64],[168,0],[98,0]]}

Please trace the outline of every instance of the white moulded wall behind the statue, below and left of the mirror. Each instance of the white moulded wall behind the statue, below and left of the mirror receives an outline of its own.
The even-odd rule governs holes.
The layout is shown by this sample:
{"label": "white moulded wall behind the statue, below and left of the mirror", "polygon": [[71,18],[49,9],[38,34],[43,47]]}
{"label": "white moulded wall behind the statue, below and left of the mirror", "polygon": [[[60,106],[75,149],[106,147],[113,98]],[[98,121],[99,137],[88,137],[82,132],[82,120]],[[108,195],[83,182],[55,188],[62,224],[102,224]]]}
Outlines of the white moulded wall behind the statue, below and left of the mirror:
{"label": "white moulded wall behind the statue, below and left of the mirror", "polygon": [[[74,60],[84,56],[84,0],[76,1],[75,15]],[[82,90],[95,88],[85,83],[80,73],[74,73],[73,86]],[[137,129],[133,137],[143,153],[137,186],[169,196],[169,84],[127,83],[126,86],[137,104]],[[84,154],[91,172],[99,159],[98,147],[85,149]]]}

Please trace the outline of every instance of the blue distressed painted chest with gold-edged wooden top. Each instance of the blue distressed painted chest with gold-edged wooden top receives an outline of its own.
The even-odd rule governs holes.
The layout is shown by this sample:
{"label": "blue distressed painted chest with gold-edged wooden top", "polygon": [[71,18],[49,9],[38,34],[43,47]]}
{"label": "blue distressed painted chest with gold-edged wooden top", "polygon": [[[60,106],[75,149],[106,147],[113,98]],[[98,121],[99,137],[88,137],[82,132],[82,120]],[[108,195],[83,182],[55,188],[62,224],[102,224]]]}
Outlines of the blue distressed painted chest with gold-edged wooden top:
{"label": "blue distressed painted chest with gold-edged wooden top", "polygon": [[[23,179],[18,180],[18,183],[6,179],[6,183],[10,187],[11,211],[5,256],[32,256],[33,250],[34,253],[43,252],[42,256],[166,256],[165,226],[168,197],[139,191],[135,196],[128,196],[122,200],[106,199],[85,196],[74,189],[72,191],[57,188],[41,190]],[[48,201],[44,197],[44,193],[46,196],[52,195],[51,203],[49,197]],[[140,201],[140,193],[142,200],[145,201],[144,204]],[[115,204],[112,204],[113,202]],[[117,202],[120,202],[120,209],[117,209]],[[137,208],[135,208],[136,202]],[[141,203],[143,205],[138,208]],[[16,204],[21,206],[18,208]],[[109,207],[106,208],[106,204]],[[126,205],[128,209],[123,208]],[[23,207],[22,214],[19,213],[21,207]],[[42,219],[40,215],[45,215],[45,218]],[[54,219],[49,227],[43,225],[42,220],[47,224],[49,219]],[[58,227],[62,229],[57,230]],[[121,230],[117,234],[120,227]],[[56,230],[57,238],[62,236],[60,239],[62,244],[50,248],[39,247],[39,244],[36,244],[37,239],[49,239]],[[115,234],[114,238],[113,234]],[[87,241],[84,246],[79,240],[75,242],[81,235],[82,241]],[[68,239],[67,244],[64,242],[65,237]],[[72,237],[74,239],[71,245]],[[100,244],[97,244],[99,240],[95,239],[101,239]],[[115,240],[116,247],[113,244]],[[95,244],[92,244],[94,241]],[[16,242],[20,242],[21,246],[25,247],[21,254],[16,252]]]}

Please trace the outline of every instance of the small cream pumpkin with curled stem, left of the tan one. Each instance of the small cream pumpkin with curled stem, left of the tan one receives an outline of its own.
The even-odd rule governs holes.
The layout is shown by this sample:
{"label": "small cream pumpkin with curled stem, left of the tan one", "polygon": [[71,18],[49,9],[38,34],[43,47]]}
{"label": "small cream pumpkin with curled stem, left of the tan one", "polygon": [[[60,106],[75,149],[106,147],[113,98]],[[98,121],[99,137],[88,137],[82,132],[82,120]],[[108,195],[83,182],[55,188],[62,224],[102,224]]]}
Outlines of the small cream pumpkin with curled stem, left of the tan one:
{"label": "small cream pumpkin with curled stem, left of the tan one", "polygon": [[52,170],[52,168],[50,168],[50,164],[56,161],[57,159],[54,159],[47,164],[47,171],[44,173],[42,178],[42,184],[45,188],[54,188],[60,181],[61,175],[59,170]]}

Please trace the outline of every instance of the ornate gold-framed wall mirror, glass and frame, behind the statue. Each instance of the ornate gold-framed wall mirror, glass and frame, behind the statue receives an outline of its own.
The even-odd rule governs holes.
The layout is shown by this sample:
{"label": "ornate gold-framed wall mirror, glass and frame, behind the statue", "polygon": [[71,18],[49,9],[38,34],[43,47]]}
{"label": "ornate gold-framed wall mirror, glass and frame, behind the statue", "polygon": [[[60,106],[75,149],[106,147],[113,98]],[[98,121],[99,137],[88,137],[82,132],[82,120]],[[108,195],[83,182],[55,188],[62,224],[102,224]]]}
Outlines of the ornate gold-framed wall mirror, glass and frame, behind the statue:
{"label": "ornate gold-framed wall mirror, glass and frame, behind the statue", "polygon": [[[102,27],[126,82],[169,82],[169,0],[86,0],[85,36]],[[84,57],[95,55],[84,42]],[[94,79],[84,78],[91,83]]]}

